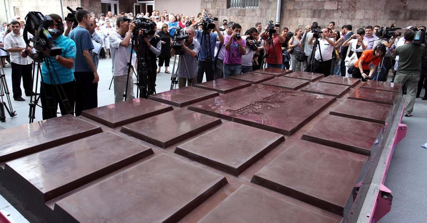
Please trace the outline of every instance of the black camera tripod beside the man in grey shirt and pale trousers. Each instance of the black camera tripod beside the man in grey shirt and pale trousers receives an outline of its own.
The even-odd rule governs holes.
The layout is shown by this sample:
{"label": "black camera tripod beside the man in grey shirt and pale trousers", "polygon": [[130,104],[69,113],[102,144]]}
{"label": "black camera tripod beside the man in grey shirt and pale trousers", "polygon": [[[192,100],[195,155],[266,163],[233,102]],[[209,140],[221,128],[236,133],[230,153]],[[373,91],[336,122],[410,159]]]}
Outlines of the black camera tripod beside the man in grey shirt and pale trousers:
{"label": "black camera tripod beside the man in grey shirt and pale trousers", "polygon": [[[135,35],[136,34],[136,35]],[[152,69],[151,63],[150,63],[150,56],[149,56],[149,49],[147,46],[147,43],[143,40],[143,38],[148,36],[146,35],[138,35],[138,32],[135,32],[132,35],[131,38],[131,49],[134,49],[135,46],[135,52],[136,52],[136,58],[137,58],[137,95],[139,93],[140,98],[148,98],[149,95],[155,94],[155,79],[154,79],[154,71]],[[129,83],[129,76],[132,69],[132,53],[129,58],[128,63],[128,76],[126,78],[126,89],[125,93],[123,94],[123,97],[125,98],[125,101],[127,99],[127,92],[128,92],[128,83]],[[133,87],[133,86],[132,86]]]}

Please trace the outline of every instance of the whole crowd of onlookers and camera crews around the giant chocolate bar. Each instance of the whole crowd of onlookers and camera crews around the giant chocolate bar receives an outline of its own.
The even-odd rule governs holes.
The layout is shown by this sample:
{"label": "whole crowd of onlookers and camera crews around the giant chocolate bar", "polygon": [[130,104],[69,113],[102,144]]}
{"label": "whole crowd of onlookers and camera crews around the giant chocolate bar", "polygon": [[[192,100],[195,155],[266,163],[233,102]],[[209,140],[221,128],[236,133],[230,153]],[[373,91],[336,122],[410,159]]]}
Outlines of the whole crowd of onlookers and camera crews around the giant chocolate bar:
{"label": "whole crowd of onlookers and camera crews around the giant chocolate bar", "polygon": [[[135,35],[132,13],[107,12],[97,17],[94,12],[78,10],[76,20],[79,24],[74,29],[70,21],[62,20],[57,14],[50,14],[50,17],[55,21],[50,28],[63,33],[53,39],[62,53],[52,57],[52,67],[43,62],[43,96],[56,98],[55,103],[59,101],[63,115],[67,111],[60,103],[61,98],[68,98],[76,116],[82,110],[97,107],[99,59],[111,58],[115,101],[135,98],[133,72],[128,69],[129,58],[132,58],[132,66],[136,68],[138,64],[135,49],[131,49],[131,37]],[[255,23],[246,31],[240,24],[228,20],[222,20],[222,26],[217,26],[205,22],[212,18],[207,12],[184,16],[154,10],[151,14],[147,12],[135,17],[150,19],[155,27],[143,36],[149,49],[149,66],[154,71],[154,86],[161,67],[170,73],[170,58],[175,55],[179,55],[178,87],[201,83],[204,75],[211,81],[264,66],[377,81],[387,81],[389,70],[393,69],[392,81],[406,83],[409,101],[405,116],[411,116],[415,97],[419,97],[421,88],[427,84],[426,48],[424,43],[412,43],[414,30],[425,30],[425,26],[404,28],[401,38],[397,32],[380,38],[375,33],[381,27],[370,25],[356,29],[354,33],[350,24],[336,30],[334,22],[325,28],[313,22],[292,33],[287,27],[280,32],[278,26],[271,24],[263,29],[262,23]],[[25,21],[16,17],[11,23],[3,23],[0,35],[0,47],[4,49],[0,52],[2,64],[7,67],[6,60],[10,55],[13,98],[17,101],[25,100],[21,97],[21,78],[25,94],[33,94],[30,84],[34,50],[23,43],[24,26]],[[176,35],[188,37],[174,42]],[[178,43],[181,50],[172,47]],[[52,80],[49,67],[58,72],[58,78]],[[58,84],[64,87],[62,97],[53,91]],[[427,94],[422,99],[427,100]],[[48,104],[43,97],[41,102],[42,105]],[[56,108],[44,107],[43,119],[56,117]]]}

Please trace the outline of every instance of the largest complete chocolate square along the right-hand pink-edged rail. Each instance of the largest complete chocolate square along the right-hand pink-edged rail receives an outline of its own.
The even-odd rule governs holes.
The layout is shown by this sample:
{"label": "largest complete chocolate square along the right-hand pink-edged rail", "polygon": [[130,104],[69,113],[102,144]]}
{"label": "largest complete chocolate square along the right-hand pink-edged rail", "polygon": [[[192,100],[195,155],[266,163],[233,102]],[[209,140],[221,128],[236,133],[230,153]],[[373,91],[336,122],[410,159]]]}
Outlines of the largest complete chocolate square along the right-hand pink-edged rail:
{"label": "largest complete chocolate square along the right-hand pink-edged rail", "polygon": [[251,181],[342,216],[366,159],[356,153],[298,140]]}

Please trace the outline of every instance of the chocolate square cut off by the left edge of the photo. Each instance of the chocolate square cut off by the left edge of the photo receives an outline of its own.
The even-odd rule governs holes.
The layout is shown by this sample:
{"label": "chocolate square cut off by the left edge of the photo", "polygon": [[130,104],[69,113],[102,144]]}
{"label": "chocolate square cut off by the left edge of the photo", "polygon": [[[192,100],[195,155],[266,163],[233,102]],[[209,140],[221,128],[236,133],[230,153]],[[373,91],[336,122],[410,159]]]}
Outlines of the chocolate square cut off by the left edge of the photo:
{"label": "chocolate square cut off by the left edge of the photo", "polygon": [[102,132],[72,115],[0,131],[0,163]]}

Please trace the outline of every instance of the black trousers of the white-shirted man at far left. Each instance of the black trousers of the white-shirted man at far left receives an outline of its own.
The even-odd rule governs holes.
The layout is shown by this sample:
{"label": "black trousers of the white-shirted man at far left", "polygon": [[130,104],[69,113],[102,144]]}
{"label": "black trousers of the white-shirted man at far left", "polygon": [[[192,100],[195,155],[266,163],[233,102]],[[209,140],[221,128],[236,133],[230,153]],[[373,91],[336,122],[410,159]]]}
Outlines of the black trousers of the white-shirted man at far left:
{"label": "black trousers of the white-shirted man at far left", "polygon": [[31,96],[32,64],[20,65],[12,62],[11,65],[13,98],[22,97],[21,78],[24,86],[25,95]]}

